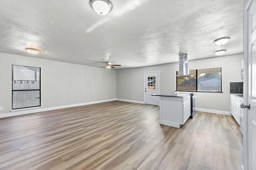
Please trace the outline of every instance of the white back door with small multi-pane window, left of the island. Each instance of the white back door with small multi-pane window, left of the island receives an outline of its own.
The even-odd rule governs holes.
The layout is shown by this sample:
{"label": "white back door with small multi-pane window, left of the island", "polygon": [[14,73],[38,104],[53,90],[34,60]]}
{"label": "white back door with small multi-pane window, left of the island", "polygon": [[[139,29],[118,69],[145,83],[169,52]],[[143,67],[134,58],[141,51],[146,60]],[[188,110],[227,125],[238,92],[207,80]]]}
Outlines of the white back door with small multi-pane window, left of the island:
{"label": "white back door with small multi-pane window, left of the island", "polygon": [[144,103],[158,106],[158,96],[151,94],[159,93],[159,72],[144,73]]}

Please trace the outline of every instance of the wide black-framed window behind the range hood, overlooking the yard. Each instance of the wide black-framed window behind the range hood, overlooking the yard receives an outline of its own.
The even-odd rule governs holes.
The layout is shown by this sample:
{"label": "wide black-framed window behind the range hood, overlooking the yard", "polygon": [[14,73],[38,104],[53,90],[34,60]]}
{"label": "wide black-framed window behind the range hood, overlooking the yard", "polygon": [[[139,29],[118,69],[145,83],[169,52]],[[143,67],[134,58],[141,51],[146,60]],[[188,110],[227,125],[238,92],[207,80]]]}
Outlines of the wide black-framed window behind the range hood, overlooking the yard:
{"label": "wide black-framed window behind the range hood, overlooking the yard", "polygon": [[221,68],[189,70],[189,74],[190,76],[177,76],[177,91],[222,92]]}

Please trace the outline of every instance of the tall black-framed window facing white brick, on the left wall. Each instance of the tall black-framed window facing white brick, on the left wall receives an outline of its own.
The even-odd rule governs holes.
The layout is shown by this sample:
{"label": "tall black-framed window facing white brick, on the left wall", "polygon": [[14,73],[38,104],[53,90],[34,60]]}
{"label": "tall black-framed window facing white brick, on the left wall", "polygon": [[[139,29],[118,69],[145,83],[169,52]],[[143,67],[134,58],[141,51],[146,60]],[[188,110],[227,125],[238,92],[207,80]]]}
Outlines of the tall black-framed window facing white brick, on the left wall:
{"label": "tall black-framed window facing white brick, on the left wall", "polygon": [[12,65],[12,109],[41,106],[40,70]]}

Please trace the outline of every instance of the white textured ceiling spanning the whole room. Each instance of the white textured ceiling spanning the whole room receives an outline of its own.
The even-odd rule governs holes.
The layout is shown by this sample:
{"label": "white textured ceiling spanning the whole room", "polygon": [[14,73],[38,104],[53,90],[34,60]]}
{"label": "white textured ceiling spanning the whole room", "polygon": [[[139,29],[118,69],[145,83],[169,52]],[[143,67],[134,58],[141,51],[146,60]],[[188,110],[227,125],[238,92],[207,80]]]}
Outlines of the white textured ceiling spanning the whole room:
{"label": "white textured ceiling spanning the whole room", "polygon": [[[89,0],[0,0],[0,52],[114,69],[243,53],[242,0],[111,0],[105,16]],[[226,45],[214,39],[231,37]],[[26,47],[42,53],[30,55]]]}

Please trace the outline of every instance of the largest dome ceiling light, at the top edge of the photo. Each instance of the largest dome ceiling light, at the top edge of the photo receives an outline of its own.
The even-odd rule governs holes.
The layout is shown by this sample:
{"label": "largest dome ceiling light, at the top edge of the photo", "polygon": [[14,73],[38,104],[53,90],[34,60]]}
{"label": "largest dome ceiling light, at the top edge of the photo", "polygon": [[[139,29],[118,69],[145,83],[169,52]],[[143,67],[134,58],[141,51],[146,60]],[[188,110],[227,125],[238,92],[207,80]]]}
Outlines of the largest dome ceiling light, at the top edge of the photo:
{"label": "largest dome ceiling light, at the top edge of the photo", "polygon": [[109,0],[90,0],[90,5],[99,15],[106,15],[112,10],[112,3]]}

